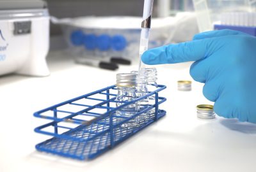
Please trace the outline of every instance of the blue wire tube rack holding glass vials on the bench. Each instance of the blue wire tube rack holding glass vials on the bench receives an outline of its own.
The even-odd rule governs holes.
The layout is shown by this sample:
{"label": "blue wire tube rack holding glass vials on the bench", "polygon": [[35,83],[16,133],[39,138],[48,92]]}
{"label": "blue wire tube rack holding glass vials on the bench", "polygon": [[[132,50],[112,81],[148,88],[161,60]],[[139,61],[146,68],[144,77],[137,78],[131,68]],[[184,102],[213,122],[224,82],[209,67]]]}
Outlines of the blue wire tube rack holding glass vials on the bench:
{"label": "blue wire tube rack holding glass vials on the bench", "polygon": [[[38,143],[36,150],[79,160],[93,159],[166,115],[166,111],[159,110],[159,104],[166,101],[166,98],[158,95],[163,89],[166,86],[158,85],[147,95],[116,107],[117,89],[112,85],[37,111],[35,117],[51,122],[36,127],[35,132],[53,137]],[[155,103],[131,117],[115,115],[116,110],[150,96],[155,96]],[[152,109],[155,112],[140,120],[138,127],[121,126]],[[122,120],[116,122],[116,118]]]}

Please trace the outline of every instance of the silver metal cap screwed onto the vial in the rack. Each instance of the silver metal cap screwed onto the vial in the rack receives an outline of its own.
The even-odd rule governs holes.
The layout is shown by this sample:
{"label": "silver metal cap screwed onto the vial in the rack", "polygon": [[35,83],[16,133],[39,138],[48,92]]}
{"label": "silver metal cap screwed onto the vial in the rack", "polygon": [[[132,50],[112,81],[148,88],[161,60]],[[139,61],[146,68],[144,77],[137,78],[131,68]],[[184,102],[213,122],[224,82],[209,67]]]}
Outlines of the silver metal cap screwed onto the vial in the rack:
{"label": "silver metal cap screwed onto the vial in the rack", "polygon": [[118,73],[116,74],[116,86],[133,87],[137,85],[136,73]]}

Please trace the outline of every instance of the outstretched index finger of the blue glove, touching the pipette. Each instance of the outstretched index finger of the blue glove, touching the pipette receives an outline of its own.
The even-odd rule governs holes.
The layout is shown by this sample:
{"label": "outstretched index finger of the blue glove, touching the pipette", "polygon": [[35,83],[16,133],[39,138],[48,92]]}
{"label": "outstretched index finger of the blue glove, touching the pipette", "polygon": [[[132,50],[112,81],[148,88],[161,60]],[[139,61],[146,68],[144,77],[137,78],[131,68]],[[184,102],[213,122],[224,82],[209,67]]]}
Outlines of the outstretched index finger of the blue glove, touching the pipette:
{"label": "outstretched index finger of the blue glove, touching the pipette", "polygon": [[200,39],[152,48],[141,56],[145,64],[173,64],[204,59],[223,47],[220,38]]}

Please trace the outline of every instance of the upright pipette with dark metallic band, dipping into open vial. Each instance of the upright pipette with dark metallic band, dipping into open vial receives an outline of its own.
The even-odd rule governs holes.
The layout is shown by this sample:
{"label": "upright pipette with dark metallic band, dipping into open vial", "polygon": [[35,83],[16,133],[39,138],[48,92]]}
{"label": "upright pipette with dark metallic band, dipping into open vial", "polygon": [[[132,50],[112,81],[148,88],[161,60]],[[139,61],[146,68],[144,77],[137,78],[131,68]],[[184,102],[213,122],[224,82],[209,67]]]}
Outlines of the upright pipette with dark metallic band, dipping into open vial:
{"label": "upright pipette with dark metallic band, dipping into open vial", "polygon": [[140,34],[140,66],[139,71],[145,68],[145,64],[141,61],[141,55],[148,50],[148,36],[150,31],[151,16],[153,9],[154,0],[145,0],[143,7],[143,20],[141,23],[141,34]]}

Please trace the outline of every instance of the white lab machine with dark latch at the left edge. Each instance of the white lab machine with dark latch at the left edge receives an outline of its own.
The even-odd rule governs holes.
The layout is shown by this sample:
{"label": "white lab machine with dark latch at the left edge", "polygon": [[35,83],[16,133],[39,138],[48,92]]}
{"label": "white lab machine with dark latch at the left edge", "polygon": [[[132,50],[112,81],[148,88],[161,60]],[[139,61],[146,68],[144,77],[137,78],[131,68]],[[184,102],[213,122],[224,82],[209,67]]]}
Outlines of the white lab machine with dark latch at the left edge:
{"label": "white lab machine with dark latch at the left edge", "polygon": [[47,76],[49,14],[44,1],[0,1],[0,75]]}

